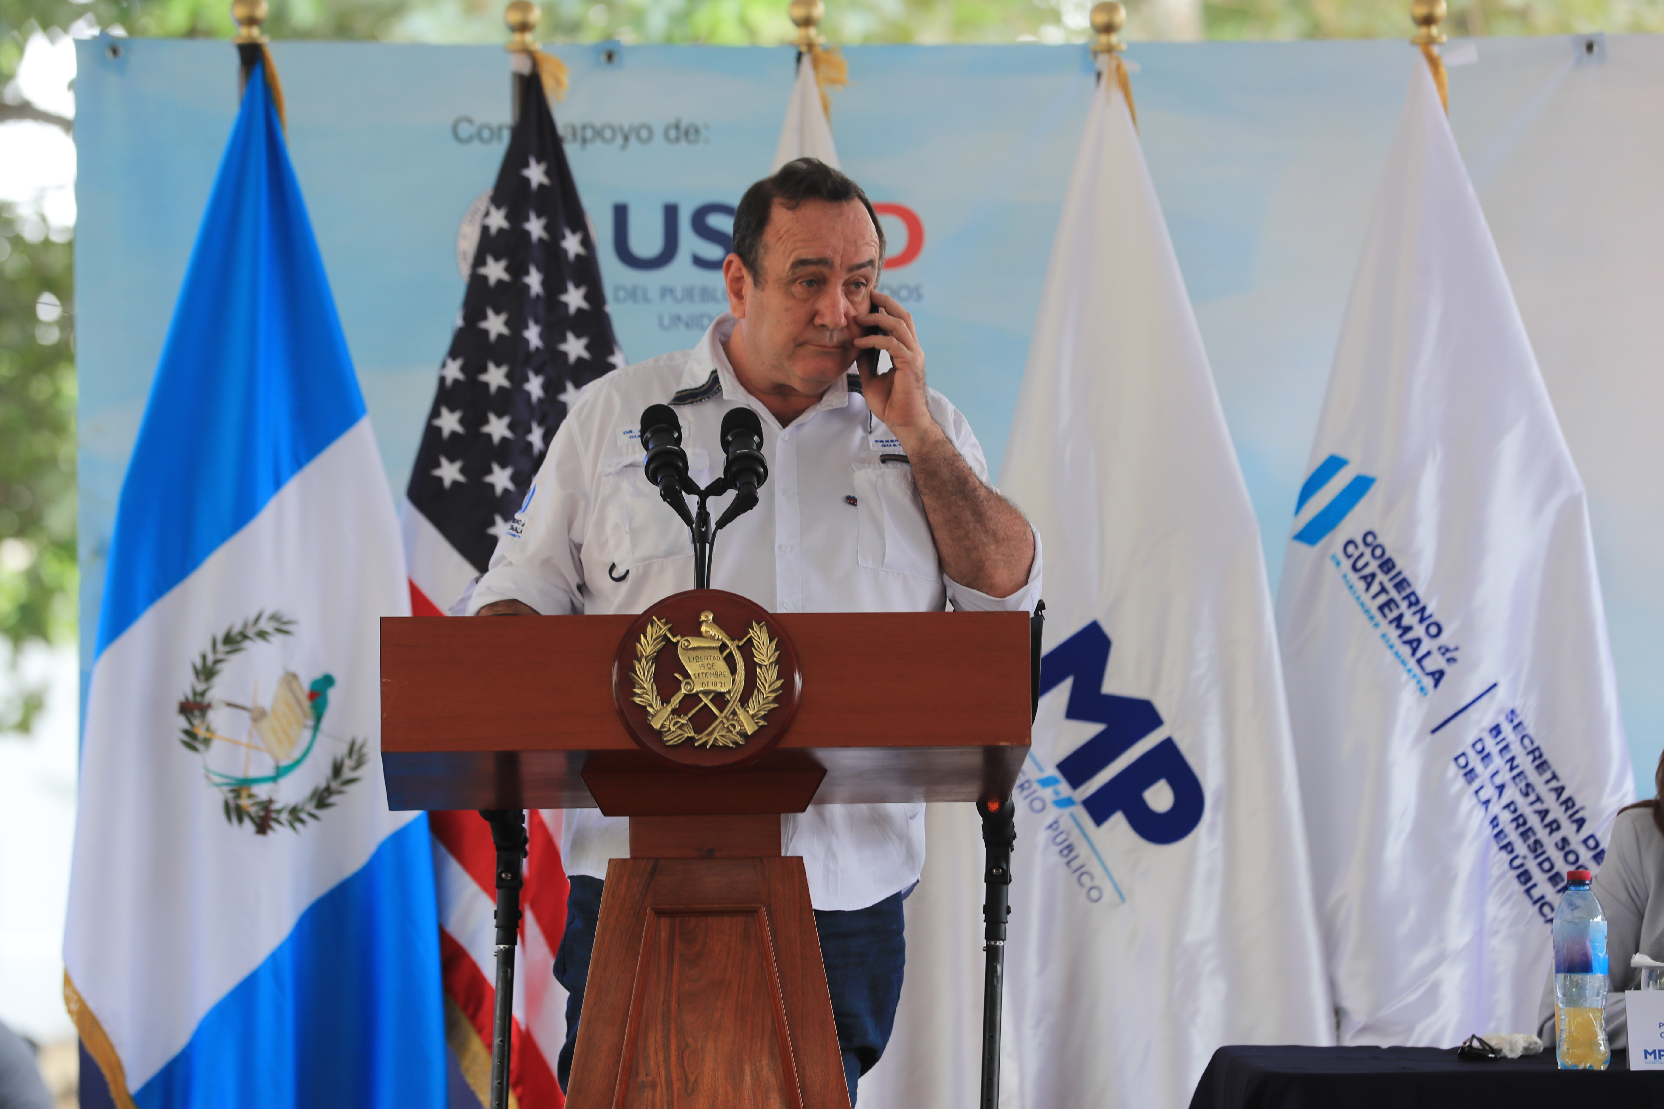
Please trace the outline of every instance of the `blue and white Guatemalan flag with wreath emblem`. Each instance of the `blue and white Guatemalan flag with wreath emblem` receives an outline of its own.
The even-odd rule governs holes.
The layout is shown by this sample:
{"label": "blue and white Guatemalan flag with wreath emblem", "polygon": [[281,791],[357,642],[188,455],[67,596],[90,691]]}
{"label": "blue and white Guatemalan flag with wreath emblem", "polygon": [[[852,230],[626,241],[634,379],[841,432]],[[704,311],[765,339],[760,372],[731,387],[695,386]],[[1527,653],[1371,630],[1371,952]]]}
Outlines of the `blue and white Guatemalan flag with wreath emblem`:
{"label": "blue and white Guatemalan flag with wreath emblem", "polygon": [[426,820],[389,813],[399,527],[253,68],[110,549],[65,998],[116,1104],[444,1104]]}

